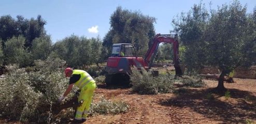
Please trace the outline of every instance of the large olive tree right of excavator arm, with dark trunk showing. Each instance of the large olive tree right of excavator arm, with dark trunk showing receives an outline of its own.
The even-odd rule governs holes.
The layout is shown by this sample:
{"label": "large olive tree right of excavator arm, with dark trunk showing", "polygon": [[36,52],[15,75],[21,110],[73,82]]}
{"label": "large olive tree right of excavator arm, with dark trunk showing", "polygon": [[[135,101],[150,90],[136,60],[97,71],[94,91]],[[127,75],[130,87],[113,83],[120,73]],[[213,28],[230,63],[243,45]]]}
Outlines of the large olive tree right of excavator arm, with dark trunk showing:
{"label": "large olive tree right of excavator arm, with dark trunk showing", "polygon": [[218,90],[225,90],[226,74],[255,63],[255,22],[253,14],[246,11],[239,1],[210,10],[210,14],[199,4],[187,16],[181,16],[180,22],[173,21],[186,46],[186,65],[191,69],[206,65],[221,70]]}

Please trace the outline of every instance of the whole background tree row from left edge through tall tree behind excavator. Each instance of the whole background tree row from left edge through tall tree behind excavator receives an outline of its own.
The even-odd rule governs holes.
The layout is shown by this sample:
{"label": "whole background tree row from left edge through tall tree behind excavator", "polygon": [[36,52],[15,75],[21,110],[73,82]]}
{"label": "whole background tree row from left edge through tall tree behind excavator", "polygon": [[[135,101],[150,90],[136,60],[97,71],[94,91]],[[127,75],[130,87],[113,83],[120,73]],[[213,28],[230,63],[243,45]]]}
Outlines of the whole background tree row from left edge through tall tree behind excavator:
{"label": "whole background tree row from left edge through tall tree behind excavator", "polygon": [[138,11],[117,7],[110,17],[110,30],[103,38],[70,35],[52,43],[47,35],[47,22],[38,15],[24,19],[21,15],[0,17],[0,65],[19,64],[33,66],[34,60],[58,57],[66,66],[81,67],[103,63],[111,53],[113,43],[133,43],[140,56],[144,56],[154,37],[155,18]]}

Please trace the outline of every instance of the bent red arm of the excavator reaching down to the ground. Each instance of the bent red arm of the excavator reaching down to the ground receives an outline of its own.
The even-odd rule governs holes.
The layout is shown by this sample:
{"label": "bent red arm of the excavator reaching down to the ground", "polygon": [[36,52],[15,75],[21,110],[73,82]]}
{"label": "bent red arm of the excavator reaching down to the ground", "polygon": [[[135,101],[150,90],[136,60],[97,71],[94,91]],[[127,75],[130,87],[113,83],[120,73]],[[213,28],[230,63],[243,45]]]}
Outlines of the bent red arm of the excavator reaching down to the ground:
{"label": "bent red arm of the excavator reaching down to the ground", "polygon": [[179,66],[179,42],[178,42],[178,35],[161,35],[157,34],[153,39],[153,44],[148,49],[144,62],[145,66],[151,68],[154,55],[157,53],[158,46],[160,43],[173,43],[173,53],[174,53],[174,67],[177,76],[182,75],[181,68]]}

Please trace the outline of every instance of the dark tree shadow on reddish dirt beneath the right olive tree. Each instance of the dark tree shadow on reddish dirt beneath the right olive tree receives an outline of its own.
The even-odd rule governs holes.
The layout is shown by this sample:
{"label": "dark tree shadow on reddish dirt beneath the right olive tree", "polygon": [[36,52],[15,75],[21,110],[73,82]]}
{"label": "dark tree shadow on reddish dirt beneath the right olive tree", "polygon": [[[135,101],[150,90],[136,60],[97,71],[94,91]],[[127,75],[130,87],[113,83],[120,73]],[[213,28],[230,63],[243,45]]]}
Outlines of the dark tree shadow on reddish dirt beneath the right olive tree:
{"label": "dark tree shadow on reddish dirt beneath the right olive tree", "polygon": [[[175,107],[189,107],[194,112],[204,115],[209,119],[223,121],[223,123],[245,123],[246,119],[256,119],[256,97],[249,91],[227,89],[231,97],[225,99],[218,94],[213,94],[209,89],[186,89],[175,98],[161,101],[161,105]],[[208,96],[214,98],[210,99]],[[249,98],[249,99],[248,99]]]}

